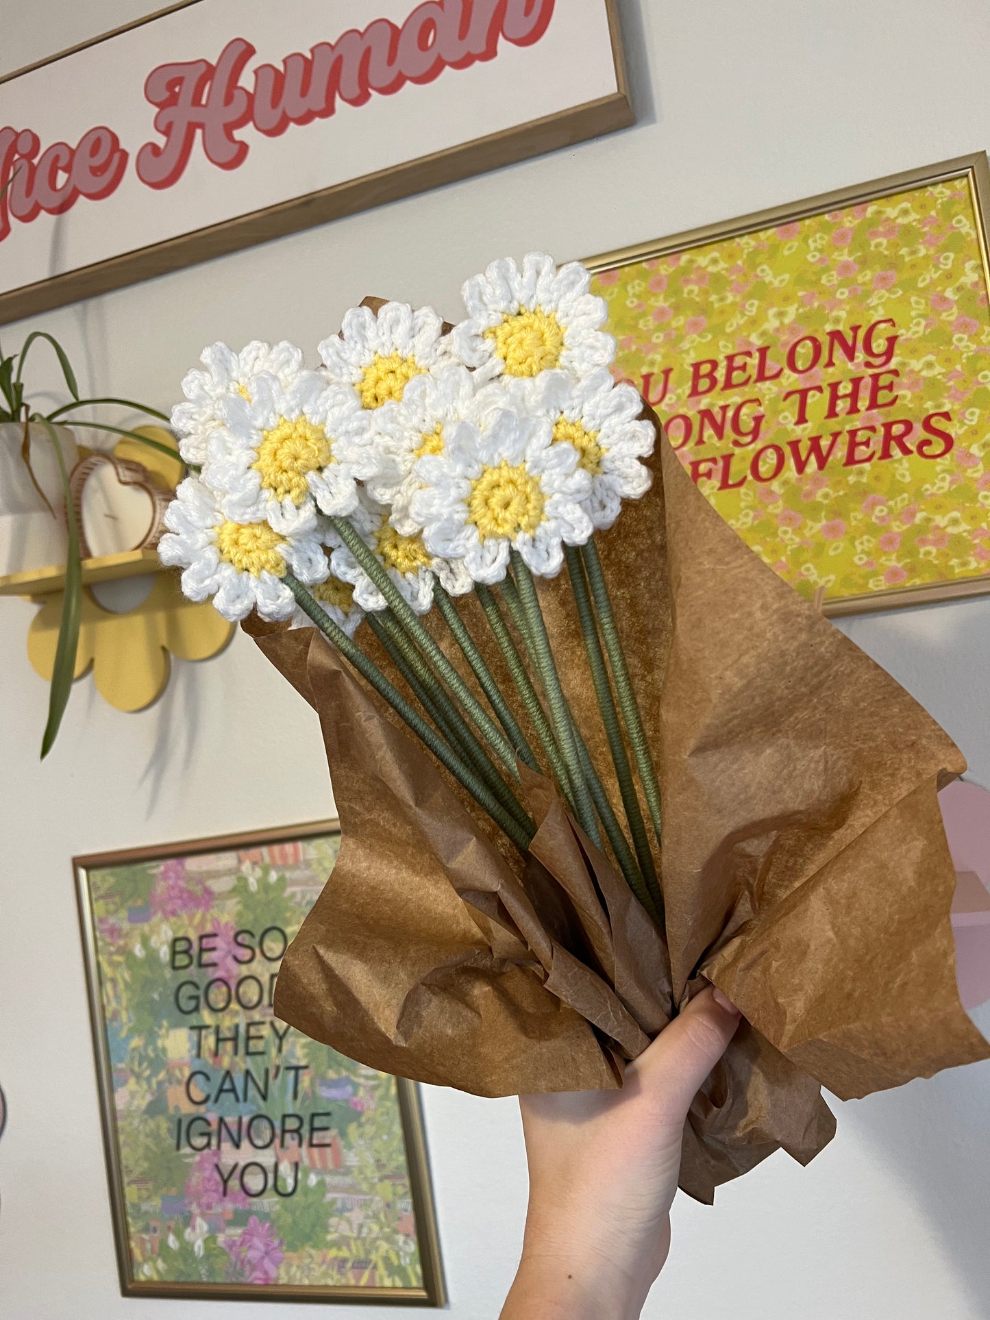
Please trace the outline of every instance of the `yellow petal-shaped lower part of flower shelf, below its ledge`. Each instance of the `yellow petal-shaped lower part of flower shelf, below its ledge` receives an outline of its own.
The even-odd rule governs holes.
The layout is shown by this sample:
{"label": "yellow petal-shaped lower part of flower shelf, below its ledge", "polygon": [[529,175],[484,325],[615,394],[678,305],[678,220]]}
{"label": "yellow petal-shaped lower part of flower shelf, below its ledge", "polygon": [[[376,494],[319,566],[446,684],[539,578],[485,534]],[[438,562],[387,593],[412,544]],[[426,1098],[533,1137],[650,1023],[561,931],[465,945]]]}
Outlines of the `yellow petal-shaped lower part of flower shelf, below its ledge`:
{"label": "yellow petal-shaped lower part of flower shelf, below its ledge", "polygon": [[[42,678],[51,678],[62,615],[62,593],[45,598],[28,628],[28,659]],[[158,573],[145,601],[127,614],[104,610],[82,594],[75,675],[92,668],[96,689],[117,710],[143,710],[169,681],[170,656],[209,660],[227,645],[234,624],[206,601],[186,601],[174,573]]]}

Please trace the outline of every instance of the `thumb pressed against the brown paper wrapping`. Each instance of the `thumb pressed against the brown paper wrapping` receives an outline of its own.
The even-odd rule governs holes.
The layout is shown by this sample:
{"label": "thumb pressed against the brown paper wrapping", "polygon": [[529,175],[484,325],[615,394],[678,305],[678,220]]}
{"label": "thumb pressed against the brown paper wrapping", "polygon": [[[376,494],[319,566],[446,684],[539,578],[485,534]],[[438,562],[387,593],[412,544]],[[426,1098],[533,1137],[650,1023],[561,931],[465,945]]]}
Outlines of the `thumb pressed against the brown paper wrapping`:
{"label": "thumb pressed against the brown paper wrapping", "polygon": [[661,1089],[667,1104],[686,1114],[739,1022],[739,1010],[721,990],[702,990],[640,1055],[644,1084]]}

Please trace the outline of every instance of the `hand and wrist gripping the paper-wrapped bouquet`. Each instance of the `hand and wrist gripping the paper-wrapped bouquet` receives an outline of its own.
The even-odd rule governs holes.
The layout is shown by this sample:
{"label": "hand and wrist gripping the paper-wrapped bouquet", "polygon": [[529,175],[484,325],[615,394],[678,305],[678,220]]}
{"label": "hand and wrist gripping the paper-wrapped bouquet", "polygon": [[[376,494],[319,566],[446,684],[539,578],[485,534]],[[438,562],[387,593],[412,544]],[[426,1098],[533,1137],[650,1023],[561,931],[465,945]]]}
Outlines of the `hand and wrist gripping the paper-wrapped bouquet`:
{"label": "hand and wrist gripping the paper-wrapped bouquet", "polygon": [[620,1090],[520,1096],[523,1257],[502,1320],[635,1320],[671,1245],[681,1133],[738,1010],[704,990],[626,1068]]}

